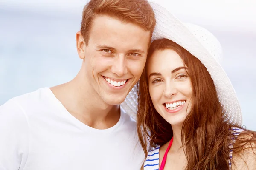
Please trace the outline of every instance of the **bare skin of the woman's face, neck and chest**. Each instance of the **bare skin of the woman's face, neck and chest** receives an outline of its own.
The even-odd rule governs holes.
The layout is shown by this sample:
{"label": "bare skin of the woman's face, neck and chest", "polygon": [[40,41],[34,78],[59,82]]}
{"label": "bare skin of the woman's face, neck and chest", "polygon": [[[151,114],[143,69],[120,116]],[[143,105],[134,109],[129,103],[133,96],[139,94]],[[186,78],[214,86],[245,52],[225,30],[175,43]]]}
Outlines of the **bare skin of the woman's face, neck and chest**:
{"label": "bare skin of the woman's face, neck and chest", "polygon": [[[172,125],[174,133],[165,169],[182,170],[187,161],[183,149],[180,148],[182,145],[181,127],[192,105],[192,84],[186,65],[174,50],[164,49],[152,54],[147,68],[149,93],[153,105],[157,112]],[[164,103],[174,101],[186,101],[186,103],[175,113],[169,113]],[[169,142],[160,147],[160,164],[168,145]]]}

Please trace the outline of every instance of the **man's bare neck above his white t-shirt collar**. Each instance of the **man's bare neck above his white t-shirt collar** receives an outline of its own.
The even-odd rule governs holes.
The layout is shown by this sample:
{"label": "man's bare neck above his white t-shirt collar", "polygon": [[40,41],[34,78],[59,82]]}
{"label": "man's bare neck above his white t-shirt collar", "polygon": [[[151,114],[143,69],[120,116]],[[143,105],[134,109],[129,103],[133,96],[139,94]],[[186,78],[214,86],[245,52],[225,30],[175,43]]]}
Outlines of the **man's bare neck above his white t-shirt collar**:
{"label": "man's bare neck above his white t-shirt collar", "polygon": [[107,129],[119,121],[119,105],[106,104],[78,77],[51,90],[67,111],[85,125]]}

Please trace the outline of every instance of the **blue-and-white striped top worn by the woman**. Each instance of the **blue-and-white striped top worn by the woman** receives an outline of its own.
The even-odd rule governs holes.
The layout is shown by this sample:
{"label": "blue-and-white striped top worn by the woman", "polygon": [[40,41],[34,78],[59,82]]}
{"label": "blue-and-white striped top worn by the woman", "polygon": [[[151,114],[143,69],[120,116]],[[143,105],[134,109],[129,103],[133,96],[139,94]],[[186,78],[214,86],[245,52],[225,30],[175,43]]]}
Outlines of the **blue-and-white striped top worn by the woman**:
{"label": "blue-and-white striped top worn by the woman", "polygon": [[[229,145],[230,148],[230,158],[232,159],[232,152],[233,152],[233,144],[236,142],[237,136],[242,132],[242,129],[233,128],[232,134],[236,137],[232,138],[232,143]],[[144,162],[144,170],[159,170],[159,149],[160,146],[157,146],[155,148],[151,148],[151,150],[148,151],[147,159]],[[231,162],[229,161],[229,166],[231,170]]]}

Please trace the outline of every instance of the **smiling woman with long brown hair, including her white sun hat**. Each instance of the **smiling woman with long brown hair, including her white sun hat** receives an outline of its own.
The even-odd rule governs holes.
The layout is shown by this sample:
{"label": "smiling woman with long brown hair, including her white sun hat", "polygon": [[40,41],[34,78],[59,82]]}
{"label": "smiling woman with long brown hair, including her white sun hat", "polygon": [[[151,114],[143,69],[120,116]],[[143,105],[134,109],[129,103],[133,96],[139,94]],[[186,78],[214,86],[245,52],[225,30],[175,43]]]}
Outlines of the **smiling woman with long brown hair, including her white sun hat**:
{"label": "smiling woman with long brown hair, including her white sun hat", "polygon": [[157,28],[138,91],[142,170],[255,170],[256,135],[241,127],[239,102],[218,63],[218,40],[151,5]]}

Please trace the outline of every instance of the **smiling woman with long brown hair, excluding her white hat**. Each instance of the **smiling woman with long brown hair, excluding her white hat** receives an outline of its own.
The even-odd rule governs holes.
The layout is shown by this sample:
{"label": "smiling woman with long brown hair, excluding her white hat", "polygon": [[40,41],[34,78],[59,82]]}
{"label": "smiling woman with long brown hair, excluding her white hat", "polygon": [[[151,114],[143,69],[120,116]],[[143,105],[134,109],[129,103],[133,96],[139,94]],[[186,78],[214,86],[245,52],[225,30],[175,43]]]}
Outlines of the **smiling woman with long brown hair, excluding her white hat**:
{"label": "smiling woman with long brown hair, excluding her white hat", "polygon": [[255,168],[256,133],[230,122],[207,68],[177,43],[152,42],[139,94],[144,170]]}

